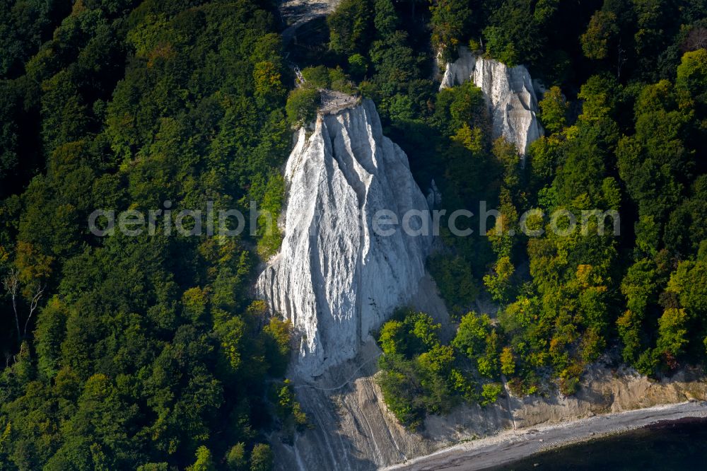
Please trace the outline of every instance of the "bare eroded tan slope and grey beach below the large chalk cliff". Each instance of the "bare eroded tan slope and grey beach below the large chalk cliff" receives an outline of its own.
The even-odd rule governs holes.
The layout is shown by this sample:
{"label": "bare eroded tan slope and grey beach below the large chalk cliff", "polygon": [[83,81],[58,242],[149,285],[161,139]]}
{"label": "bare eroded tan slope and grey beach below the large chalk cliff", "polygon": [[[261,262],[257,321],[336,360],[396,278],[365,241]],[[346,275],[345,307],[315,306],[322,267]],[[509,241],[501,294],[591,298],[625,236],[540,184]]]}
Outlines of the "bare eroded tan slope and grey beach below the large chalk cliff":
{"label": "bare eroded tan slope and grey beach below the large chalk cliff", "polygon": [[[312,429],[293,443],[273,437],[278,470],[474,470],[554,446],[628,431],[657,421],[707,417],[707,384],[691,371],[652,381],[594,366],[572,397],[510,397],[427,417],[420,432],[400,426],[375,383],[373,344],[297,396]],[[364,359],[368,358],[368,362]],[[510,409],[509,409],[510,406]]]}

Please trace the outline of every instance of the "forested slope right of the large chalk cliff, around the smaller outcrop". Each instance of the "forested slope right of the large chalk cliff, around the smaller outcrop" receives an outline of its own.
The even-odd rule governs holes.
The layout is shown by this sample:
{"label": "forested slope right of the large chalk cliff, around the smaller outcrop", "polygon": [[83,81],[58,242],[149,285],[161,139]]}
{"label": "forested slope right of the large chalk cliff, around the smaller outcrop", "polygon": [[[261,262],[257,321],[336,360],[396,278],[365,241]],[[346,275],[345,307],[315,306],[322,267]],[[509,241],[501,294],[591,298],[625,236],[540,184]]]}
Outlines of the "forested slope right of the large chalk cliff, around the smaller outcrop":
{"label": "forested slope right of the large chalk cliff, around the smaller outcrop", "polygon": [[[399,419],[493,402],[502,378],[520,395],[572,394],[604,353],[649,376],[703,363],[707,4],[439,0],[421,11],[344,0],[320,31],[304,60],[373,96],[420,184],[436,179],[443,209],[478,212],[484,200],[503,216],[488,237],[443,233],[446,249],[429,261],[460,322],[450,344],[423,313],[402,311],[380,331],[381,385]],[[453,61],[460,45],[525,64],[547,87],[546,135],[525,165],[491,141],[478,88],[430,80],[431,59]],[[580,222],[595,209],[617,211],[619,235],[611,217],[604,233],[596,216],[585,231],[568,219],[553,231],[547,218]],[[520,231],[525,211],[541,236]],[[493,318],[469,313],[479,297],[497,304]]]}

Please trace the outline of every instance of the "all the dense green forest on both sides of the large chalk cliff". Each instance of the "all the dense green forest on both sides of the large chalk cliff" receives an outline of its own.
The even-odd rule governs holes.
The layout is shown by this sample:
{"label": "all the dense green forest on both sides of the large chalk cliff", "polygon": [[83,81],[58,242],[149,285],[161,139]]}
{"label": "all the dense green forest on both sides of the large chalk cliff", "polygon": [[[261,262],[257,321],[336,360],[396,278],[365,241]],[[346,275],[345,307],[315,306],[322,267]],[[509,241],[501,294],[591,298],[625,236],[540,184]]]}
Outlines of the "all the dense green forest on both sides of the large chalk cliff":
{"label": "all the dense green forest on both sides of the large chalk cliff", "polygon": [[[267,470],[268,432],[307,426],[282,379],[290,327],[250,297],[278,233],[98,238],[86,221],[278,214],[317,86],[373,98],[449,213],[503,214],[488,237],[443,233],[428,262],[452,338],[409,310],[378,333],[404,424],[504,383],[572,394],[607,352],[650,376],[703,364],[706,2],[342,0],[295,44],[284,26],[246,0],[0,2],[0,470]],[[547,86],[524,165],[478,88],[438,91],[434,58],[459,45]],[[290,91],[284,57],[308,86]],[[528,238],[529,209],[617,210],[621,235]]]}

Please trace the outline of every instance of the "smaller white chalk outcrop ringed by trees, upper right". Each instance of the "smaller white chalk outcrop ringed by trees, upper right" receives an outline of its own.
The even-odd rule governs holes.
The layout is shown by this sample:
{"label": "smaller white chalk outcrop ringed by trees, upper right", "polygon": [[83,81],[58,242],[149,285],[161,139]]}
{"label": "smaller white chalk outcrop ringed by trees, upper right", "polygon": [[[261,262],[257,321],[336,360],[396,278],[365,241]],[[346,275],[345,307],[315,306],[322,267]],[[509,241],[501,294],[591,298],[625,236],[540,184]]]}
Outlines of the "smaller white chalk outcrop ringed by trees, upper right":
{"label": "smaller white chalk outcrop ringed by trees, upper right", "polygon": [[542,136],[537,120],[537,96],[525,66],[508,67],[493,59],[477,57],[460,47],[459,58],[445,67],[442,88],[460,85],[467,80],[481,88],[493,121],[493,138],[503,136],[515,144],[520,153]]}

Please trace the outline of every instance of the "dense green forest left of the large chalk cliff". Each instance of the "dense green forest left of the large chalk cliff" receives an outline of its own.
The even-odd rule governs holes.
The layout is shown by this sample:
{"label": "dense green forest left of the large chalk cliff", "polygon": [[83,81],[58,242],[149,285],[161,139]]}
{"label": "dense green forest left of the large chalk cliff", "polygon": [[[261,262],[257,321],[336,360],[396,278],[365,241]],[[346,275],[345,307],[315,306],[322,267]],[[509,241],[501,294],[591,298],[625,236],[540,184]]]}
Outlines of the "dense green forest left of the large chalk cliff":
{"label": "dense green forest left of the large chalk cliff", "polygon": [[293,426],[267,380],[288,324],[247,294],[267,240],[88,232],[94,209],[279,207],[276,16],[200,3],[0,6],[2,470],[264,470],[262,431]]}

